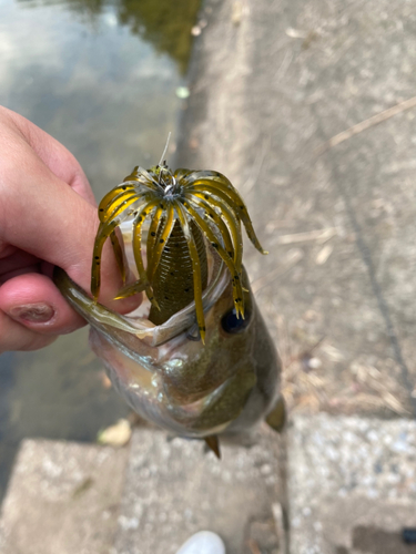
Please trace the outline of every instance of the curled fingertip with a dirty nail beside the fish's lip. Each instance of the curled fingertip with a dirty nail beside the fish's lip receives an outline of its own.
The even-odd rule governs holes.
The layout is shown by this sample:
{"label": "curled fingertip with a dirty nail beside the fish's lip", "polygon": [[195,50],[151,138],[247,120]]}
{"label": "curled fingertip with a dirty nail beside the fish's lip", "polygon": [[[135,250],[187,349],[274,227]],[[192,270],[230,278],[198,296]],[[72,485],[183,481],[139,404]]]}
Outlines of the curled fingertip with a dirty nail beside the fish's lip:
{"label": "curled fingertip with a dirty nail beside the fish's lip", "polygon": [[42,335],[62,335],[85,325],[53,283],[40,274],[19,275],[2,285],[0,310]]}

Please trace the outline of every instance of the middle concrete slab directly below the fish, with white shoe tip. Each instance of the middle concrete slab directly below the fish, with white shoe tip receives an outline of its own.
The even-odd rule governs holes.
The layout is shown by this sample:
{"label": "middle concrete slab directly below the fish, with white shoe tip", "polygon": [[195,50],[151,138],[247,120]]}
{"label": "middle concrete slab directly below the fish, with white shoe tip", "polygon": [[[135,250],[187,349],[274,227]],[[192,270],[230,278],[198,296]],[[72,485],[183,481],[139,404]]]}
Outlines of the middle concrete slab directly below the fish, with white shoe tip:
{"label": "middle concrete slab directly below the fish, with white shoe tip", "polygon": [[112,554],[174,554],[203,530],[227,554],[278,554],[276,434],[264,428],[250,448],[222,443],[221,461],[203,450],[201,441],[135,431]]}

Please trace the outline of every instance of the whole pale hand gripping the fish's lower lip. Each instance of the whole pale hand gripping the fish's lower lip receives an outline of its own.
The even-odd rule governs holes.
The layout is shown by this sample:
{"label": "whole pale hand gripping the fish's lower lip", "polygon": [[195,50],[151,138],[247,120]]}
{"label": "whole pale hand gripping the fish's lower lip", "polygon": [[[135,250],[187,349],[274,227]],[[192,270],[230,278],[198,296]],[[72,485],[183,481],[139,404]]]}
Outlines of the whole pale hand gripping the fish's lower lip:
{"label": "whole pale hand gripping the fish's lower lip", "polygon": [[[0,106],[0,353],[37,350],[85,325],[51,276],[60,266],[90,289],[98,223],[92,191],[73,155]],[[110,249],[100,301],[125,314],[140,298],[111,300],[122,283]]]}

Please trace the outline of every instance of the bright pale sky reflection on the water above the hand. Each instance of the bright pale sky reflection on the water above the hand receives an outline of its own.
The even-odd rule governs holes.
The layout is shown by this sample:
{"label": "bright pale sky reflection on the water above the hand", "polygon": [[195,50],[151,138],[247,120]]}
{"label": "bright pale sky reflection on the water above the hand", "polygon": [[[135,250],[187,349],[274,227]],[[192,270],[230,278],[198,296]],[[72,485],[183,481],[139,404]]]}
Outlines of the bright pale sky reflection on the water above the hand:
{"label": "bright pale sky reflection on the water above the hand", "polygon": [[170,57],[118,24],[114,6],[94,25],[68,13],[0,2],[0,103],[65,144],[101,196],[136,163],[159,160],[182,80]]}

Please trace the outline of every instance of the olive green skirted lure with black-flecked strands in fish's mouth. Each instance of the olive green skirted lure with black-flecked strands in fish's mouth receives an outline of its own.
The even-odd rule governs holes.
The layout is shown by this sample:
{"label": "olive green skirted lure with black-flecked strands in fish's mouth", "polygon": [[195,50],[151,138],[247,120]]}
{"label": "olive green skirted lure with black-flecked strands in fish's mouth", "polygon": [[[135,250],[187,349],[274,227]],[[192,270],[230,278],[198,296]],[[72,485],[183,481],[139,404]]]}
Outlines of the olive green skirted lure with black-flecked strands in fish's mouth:
{"label": "olive green skirted lure with black-flecked strands in fish's mouth", "polygon": [[[94,299],[100,294],[100,261],[109,237],[125,281],[123,250],[115,229],[132,218],[139,280],[125,286],[118,298],[144,290],[152,305],[149,319],[155,325],[161,325],[194,300],[197,327],[204,341],[202,293],[207,281],[205,236],[230,270],[236,317],[244,318],[241,223],[257,250],[267,253],[257,240],[243,199],[224,175],[214,171],[183,168],[172,172],[162,161],[149,171],[136,166],[121,185],[103,197],[99,218],[91,276]],[[142,229],[146,219],[149,230],[144,265]]]}

